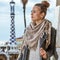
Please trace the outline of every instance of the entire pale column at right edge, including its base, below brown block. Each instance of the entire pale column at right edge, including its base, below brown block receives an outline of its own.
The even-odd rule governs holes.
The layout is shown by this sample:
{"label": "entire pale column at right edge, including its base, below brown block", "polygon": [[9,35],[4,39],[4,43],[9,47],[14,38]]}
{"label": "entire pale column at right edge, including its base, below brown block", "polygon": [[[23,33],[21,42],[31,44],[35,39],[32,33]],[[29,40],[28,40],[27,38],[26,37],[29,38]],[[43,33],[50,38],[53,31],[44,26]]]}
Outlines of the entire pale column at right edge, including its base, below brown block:
{"label": "entire pale column at right edge, including its base, below brown block", "polygon": [[60,60],[60,6],[55,9],[55,20],[58,20],[57,36],[56,36],[56,51],[58,54],[58,60]]}

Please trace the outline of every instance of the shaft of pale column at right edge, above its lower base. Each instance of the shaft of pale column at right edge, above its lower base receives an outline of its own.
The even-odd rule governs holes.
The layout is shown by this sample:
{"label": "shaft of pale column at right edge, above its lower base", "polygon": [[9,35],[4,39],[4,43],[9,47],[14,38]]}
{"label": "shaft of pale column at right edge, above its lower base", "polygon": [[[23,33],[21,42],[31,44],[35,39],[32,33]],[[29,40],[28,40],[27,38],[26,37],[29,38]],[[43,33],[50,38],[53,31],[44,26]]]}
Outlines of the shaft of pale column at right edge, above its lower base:
{"label": "shaft of pale column at right edge, above its lower base", "polygon": [[56,7],[55,16],[56,16],[55,20],[58,20],[56,46],[60,48],[60,6]]}

